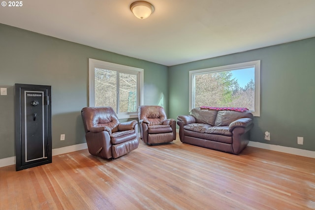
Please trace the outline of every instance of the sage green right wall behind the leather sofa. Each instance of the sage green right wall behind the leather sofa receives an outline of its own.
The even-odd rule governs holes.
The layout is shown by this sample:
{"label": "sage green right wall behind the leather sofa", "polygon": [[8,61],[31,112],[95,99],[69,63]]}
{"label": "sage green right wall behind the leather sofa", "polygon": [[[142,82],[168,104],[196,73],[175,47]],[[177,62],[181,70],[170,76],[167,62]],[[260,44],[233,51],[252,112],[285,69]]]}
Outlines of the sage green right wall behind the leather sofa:
{"label": "sage green right wall behind the leather sofa", "polygon": [[[315,38],[170,66],[169,117],[189,113],[189,70],[252,60],[261,60],[261,112],[251,140],[315,151]],[[271,141],[263,139],[265,131]],[[298,136],[304,145],[297,145]]]}

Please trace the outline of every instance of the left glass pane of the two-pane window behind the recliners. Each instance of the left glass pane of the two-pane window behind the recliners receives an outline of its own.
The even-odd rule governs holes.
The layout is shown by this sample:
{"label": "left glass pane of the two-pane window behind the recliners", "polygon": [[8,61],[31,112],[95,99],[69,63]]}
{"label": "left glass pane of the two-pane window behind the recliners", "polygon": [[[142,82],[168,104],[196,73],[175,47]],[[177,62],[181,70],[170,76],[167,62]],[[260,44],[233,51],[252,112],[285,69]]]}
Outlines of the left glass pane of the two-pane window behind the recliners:
{"label": "left glass pane of the two-pane window behind the recliners", "polygon": [[117,109],[117,72],[95,68],[95,106]]}

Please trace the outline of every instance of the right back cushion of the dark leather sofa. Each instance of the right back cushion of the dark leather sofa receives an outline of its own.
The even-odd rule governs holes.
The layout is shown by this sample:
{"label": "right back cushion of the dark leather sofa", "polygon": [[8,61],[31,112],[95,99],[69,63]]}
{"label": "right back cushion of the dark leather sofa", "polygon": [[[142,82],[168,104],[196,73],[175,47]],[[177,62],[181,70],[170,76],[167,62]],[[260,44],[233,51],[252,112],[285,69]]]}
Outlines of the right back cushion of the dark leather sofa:
{"label": "right back cushion of the dark leather sofa", "polygon": [[215,121],[215,126],[228,126],[231,122],[241,119],[241,118],[251,118],[253,119],[252,112],[238,112],[232,110],[221,110],[218,111],[217,119]]}

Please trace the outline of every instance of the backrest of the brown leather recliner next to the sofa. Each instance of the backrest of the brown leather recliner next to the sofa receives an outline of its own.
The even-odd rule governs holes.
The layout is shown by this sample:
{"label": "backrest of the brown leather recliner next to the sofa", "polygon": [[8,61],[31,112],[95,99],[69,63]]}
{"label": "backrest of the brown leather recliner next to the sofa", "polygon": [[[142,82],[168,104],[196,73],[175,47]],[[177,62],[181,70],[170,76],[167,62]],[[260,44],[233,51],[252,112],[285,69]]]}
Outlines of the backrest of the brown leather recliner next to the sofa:
{"label": "backrest of the brown leather recliner next to the sofa", "polygon": [[161,106],[139,106],[138,118],[147,119],[150,125],[160,125],[167,120],[165,110]]}

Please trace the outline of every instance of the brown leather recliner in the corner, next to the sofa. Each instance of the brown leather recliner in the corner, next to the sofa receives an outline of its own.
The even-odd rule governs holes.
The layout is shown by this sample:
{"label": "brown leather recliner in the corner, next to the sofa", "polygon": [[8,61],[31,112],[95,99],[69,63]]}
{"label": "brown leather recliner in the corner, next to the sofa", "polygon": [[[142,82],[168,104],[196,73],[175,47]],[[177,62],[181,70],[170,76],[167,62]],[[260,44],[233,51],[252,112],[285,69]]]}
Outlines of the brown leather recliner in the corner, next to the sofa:
{"label": "brown leather recliner in the corner, next to the sofa", "polygon": [[161,106],[139,106],[141,139],[147,144],[172,142],[176,139],[176,121],[167,119]]}

